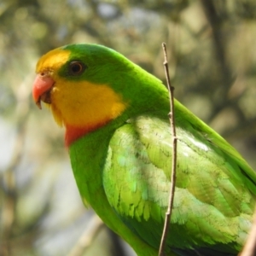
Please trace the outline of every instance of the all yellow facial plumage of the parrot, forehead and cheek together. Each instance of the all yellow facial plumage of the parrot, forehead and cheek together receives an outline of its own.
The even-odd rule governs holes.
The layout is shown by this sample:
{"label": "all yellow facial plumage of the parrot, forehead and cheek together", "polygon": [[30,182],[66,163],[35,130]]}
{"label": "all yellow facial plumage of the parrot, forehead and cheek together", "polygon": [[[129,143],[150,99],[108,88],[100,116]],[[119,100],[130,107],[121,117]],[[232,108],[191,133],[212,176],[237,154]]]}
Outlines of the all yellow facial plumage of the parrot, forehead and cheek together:
{"label": "all yellow facial plumage of the parrot, forehead and cheek together", "polygon": [[49,107],[57,124],[94,127],[123,113],[127,103],[108,84],[72,81],[58,75],[69,55],[66,49],[54,49],[43,55],[37,65],[37,73],[48,73],[55,80]]}

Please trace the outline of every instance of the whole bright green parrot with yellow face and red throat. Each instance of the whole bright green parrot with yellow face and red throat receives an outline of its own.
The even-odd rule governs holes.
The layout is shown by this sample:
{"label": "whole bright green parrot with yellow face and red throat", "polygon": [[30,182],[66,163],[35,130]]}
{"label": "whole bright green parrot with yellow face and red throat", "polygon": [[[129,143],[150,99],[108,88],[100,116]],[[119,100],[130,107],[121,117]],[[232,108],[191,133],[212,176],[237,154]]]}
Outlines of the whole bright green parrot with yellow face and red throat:
{"label": "whole bright green parrot with yellow face and red throat", "polygon": [[[34,101],[66,130],[85,205],[140,256],[158,254],[169,198],[168,90],[113,49],[70,44],[37,64]],[[175,101],[177,183],[166,255],[237,255],[252,226],[256,174]]]}

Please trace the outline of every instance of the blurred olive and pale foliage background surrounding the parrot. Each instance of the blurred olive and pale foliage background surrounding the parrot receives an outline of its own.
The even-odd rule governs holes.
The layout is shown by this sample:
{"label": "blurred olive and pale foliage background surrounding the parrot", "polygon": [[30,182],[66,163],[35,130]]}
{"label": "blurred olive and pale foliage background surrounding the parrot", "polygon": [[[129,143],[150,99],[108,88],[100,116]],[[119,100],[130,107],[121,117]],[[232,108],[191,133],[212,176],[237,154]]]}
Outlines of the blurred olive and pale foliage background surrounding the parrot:
{"label": "blurred olive and pale foliage background surrounding the parrot", "polygon": [[255,169],[255,0],[0,1],[0,255],[134,255],[83,207],[32,81],[40,55],[72,43],[105,44],[165,80],[162,42],[177,99]]}

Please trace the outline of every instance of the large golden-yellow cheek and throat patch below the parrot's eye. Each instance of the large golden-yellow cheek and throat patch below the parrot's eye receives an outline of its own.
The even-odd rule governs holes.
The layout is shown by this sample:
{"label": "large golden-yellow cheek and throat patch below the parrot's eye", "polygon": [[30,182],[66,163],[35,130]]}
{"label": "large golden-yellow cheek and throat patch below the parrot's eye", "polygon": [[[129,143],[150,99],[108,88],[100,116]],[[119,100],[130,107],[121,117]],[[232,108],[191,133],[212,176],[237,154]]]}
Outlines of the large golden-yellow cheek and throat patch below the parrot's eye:
{"label": "large golden-yellow cheek and throat patch below the parrot's eye", "polygon": [[[74,88],[75,87],[75,88]],[[51,94],[56,122],[76,127],[94,126],[115,119],[125,102],[106,84],[58,79]]]}

